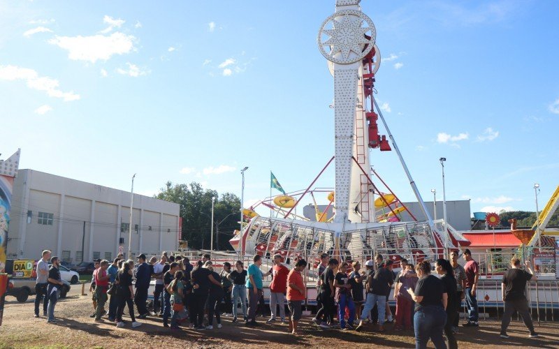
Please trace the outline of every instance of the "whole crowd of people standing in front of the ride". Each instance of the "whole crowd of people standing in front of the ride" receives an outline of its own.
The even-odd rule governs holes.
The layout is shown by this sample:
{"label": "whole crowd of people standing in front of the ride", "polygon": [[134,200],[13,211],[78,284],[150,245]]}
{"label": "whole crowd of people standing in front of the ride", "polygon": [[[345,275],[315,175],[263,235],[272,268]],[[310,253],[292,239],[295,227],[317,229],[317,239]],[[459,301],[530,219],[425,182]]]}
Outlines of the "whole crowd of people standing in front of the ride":
{"label": "whole crowd of people standing in front of the ride", "polygon": [[[219,329],[222,328],[224,304],[225,313],[232,316],[233,322],[238,321],[240,305],[245,325],[256,326],[259,325],[256,311],[263,302],[263,279],[271,274],[271,316],[267,322],[289,324],[289,333],[298,334],[298,322],[307,298],[303,282],[305,260],[298,258],[290,269],[282,263],[282,255],[277,254],[273,256],[273,267],[262,272],[261,256],[254,255],[246,269],[240,260],[235,262],[234,268],[224,262],[218,273],[209,254],[201,257],[194,263],[189,258],[168,253],[162,253],[159,259],[152,257],[149,262],[144,254],[138,255],[137,263],[124,260],[123,255],[112,262],[96,260],[89,289],[94,308],[91,317],[103,322],[103,316],[107,315],[116,327],[124,327],[126,322],[122,315],[127,307],[131,327],[142,325],[136,319],[160,316],[163,326],[170,329],[180,329],[186,322],[196,330]],[[396,273],[393,261],[384,260],[382,255],[376,255],[374,261],[367,260],[363,270],[357,261],[340,262],[323,253],[317,266],[317,314],[312,322],[323,329],[342,331],[362,331],[365,323],[372,323],[376,324],[378,332],[384,332],[385,323],[395,320],[395,331],[414,329],[416,348],[426,348],[429,340],[435,348],[447,348],[447,343],[448,348],[458,348],[458,312],[463,300],[468,311],[468,321],[463,326],[479,326],[476,299],[479,266],[467,249],[463,258],[464,267],[458,264],[458,251],[452,251],[449,260],[436,260],[433,266],[426,260],[414,266],[402,259],[398,261],[401,270]],[[56,291],[61,285],[58,267],[59,259],[50,257],[50,251],[43,251],[37,264],[35,316],[39,317],[44,297],[43,315],[48,315],[48,322],[56,322]],[[504,315],[500,336],[504,339],[509,338],[507,327],[514,311],[523,318],[530,337],[537,336],[524,295],[526,283],[537,280],[537,276],[529,262],[525,269],[528,272],[521,269],[518,258],[513,258],[511,269],[502,279]],[[153,311],[150,312],[147,294],[152,279],[155,279],[155,288]],[[388,303],[392,288],[395,316]],[[289,314],[286,314],[285,303]]]}

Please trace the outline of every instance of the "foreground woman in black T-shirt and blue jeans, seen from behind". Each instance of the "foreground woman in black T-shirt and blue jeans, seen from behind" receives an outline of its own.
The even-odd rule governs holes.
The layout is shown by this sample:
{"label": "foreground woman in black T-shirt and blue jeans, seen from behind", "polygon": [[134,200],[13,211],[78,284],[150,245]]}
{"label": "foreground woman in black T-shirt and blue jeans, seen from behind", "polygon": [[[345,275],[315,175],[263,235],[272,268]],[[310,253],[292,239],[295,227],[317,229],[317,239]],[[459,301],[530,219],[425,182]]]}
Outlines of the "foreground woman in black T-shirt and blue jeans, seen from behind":
{"label": "foreground woman in black T-shirt and blue jeans, seen from behind", "polygon": [[415,348],[427,348],[429,339],[433,341],[436,349],[447,349],[442,332],[447,322],[447,292],[437,276],[431,275],[431,265],[428,261],[417,263],[415,266],[419,281],[415,290],[407,290],[415,304],[414,331]]}

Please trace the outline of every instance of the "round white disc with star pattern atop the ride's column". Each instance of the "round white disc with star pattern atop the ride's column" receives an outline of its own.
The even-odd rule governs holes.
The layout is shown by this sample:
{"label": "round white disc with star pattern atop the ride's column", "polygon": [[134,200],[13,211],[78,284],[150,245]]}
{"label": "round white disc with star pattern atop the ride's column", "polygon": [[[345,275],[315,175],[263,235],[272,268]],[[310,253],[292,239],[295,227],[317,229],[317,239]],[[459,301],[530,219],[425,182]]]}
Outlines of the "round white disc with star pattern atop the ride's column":
{"label": "round white disc with star pattern atop the ride's column", "polygon": [[372,50],[376,37],[375,24],[367,15],[358,10],[341,10],[324,20],[317,41],[328,61],[351,64]]}

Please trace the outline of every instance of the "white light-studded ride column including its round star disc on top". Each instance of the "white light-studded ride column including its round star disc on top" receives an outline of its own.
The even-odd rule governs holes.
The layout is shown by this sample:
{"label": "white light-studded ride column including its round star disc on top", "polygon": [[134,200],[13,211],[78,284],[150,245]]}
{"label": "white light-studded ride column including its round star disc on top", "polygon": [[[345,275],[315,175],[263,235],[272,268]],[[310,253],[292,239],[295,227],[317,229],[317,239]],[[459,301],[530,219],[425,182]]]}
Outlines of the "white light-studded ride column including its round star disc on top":
{"label": "white light-studded ride column including its round star disc on top", "polygon": [[334,64],[334,221],[337,223],[346,222],[349,216],[359,68],[376,38],[375,25],[361,12],[359,2],[337,0],[336,12],[324,20],[317,39],[320,52]]}

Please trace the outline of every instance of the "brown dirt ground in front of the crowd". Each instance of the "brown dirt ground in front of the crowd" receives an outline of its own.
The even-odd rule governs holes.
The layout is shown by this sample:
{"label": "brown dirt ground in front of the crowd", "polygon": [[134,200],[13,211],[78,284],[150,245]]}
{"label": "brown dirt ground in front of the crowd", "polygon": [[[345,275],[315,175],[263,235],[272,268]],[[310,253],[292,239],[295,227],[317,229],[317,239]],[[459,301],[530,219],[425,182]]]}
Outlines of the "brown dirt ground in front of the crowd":
{"label": "brown dirt ground in front of the crowd", "polygon": [[[3,324],[0,327],[0,348],[284,348],[333,347],[340,345],[351,348],[414,348],[413,332],[394,332],[392,325],[386,332],[341,332],[321,330],[310,324],[310,317],[303,318],[299,336],[287,334],[286,325],[266,325],[266,318],[259,318],[261,325],[245,327],[222,318],[222,329],[201,332],[183,328],[172,332],[164,328],[161,318],[150,317],[143,325],[131,329],[130,322],[124,328],[116,328],[112,322],[94,322],[90,296],[80,296],[80,287],[74,286],[68,298],[61,300],[55,311],[59,320],[56,325],[48,324],[46,318],[33,317],[33,299],[20,304],[14,297],[6,298]],[[126,319],[125,320],[129,320]],[[458,334],[459,348],[559,348],[559,326],[544,323],[536,330],[539,339],[528,339],[528,330],[522,322],[513,321],[509,327],[510,339],[500,339],[500,322],[480,322],[479,329],[463,328]],[[433,348],[433,343],[429,343]]]}

